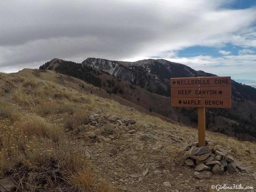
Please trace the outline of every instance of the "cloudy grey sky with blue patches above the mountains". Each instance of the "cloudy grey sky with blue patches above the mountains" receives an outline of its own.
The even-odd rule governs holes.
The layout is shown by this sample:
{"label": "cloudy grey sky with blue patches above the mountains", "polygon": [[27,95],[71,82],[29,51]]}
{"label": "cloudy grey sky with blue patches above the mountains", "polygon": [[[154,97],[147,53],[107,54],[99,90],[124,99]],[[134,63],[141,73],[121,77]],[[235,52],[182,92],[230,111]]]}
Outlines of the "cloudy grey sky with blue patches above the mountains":
{"label": "cloudy grey sky with blue patches above the mountains", "polygon": [[0,0],[0,71],[164,58],[256,80],[255,0]]}

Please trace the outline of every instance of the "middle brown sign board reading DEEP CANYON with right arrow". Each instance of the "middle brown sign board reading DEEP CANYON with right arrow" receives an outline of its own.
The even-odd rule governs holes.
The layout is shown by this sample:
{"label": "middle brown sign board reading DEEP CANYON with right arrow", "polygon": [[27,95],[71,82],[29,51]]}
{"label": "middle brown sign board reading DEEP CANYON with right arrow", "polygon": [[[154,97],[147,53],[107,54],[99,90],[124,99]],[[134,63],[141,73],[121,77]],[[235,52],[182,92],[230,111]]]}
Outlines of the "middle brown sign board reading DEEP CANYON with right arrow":
{"label": "middle brown sign board reading DEEP CANYON with right arrow", "polygon": [[231,98],[231,87],[171,88],[172,97]]}

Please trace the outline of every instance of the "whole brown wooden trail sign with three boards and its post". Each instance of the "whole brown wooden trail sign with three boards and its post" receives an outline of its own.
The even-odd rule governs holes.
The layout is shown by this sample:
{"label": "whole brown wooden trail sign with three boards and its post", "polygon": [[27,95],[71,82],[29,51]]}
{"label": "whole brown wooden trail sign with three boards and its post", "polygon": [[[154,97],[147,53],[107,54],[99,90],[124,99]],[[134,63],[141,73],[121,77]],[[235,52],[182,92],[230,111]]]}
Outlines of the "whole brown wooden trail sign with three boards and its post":
{"label": "whole brown wooden trail sign with three boards and its post", "polygon": [[205,107],[231,108],[231,77],[171,78],[171,105],[198,108],[198,144],[205,146]]}

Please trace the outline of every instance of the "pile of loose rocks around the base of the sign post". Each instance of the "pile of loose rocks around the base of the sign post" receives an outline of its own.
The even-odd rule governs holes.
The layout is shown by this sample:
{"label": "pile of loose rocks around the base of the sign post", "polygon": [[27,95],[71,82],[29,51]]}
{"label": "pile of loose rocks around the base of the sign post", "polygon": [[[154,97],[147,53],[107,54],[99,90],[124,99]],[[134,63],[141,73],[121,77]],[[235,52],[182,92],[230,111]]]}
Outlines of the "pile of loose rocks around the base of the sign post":
{"label": "pile of loose rocks around the base of the sign post", "polygon": [[[208,145],[209,139],[206,138]],[[245,172],[246,168],[237,165],[230,155],[231,150],[224,150],[218,146],[198,147],[198,143],[190,143],[182,147],[185,152],[184,164],[195,170],[193,176],[197,179],[209,179],[212,174]]]}

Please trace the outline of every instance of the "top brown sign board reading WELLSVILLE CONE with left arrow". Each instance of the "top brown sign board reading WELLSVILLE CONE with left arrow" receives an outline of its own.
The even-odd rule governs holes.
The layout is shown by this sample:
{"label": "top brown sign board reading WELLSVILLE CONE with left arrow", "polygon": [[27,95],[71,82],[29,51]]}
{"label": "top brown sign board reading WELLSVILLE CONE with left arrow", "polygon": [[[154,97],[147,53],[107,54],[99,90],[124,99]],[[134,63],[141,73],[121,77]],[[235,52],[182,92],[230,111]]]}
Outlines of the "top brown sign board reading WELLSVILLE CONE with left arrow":
{"label": "top brown sign board reading WELLSVILLE CONE with left arrow", "polygon": [[231,87],[230,77],[171,78],[171,88],[176,87]]}

